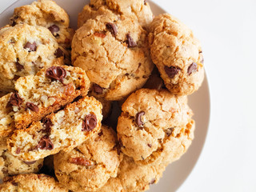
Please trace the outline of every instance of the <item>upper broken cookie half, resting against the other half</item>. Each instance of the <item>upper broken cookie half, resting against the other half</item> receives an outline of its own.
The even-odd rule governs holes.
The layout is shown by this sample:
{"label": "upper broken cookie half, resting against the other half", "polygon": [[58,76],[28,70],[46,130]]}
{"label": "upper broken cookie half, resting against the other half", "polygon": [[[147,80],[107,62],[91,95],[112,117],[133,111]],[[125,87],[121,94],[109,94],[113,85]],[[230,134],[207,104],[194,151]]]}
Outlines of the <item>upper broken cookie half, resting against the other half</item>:
{"label": "upper broken cookie half, resting against the other half", "polygon": [[15,92],[10,94],[6,106],[12,106],[15,127],[21,129],[72,102],[74,98],[85,96],[90,81],[78,67],[51,66],[38,74],[18,78],[14,85]]}

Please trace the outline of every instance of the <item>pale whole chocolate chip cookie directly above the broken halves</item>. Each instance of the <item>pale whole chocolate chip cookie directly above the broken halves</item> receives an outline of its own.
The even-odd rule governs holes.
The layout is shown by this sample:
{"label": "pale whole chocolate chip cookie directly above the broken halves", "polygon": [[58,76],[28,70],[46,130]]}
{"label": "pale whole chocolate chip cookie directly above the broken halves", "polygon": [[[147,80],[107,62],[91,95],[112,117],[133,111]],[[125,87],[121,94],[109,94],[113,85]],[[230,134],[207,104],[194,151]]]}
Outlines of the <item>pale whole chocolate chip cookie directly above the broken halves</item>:
{"label": "pale whole chocolate chip cookie directly above the broken halves", "polygon": [[58,43],[42,26],[6,26],[0,30],[0,50],[0,91],[8,92],[19,77],[52,66]]}

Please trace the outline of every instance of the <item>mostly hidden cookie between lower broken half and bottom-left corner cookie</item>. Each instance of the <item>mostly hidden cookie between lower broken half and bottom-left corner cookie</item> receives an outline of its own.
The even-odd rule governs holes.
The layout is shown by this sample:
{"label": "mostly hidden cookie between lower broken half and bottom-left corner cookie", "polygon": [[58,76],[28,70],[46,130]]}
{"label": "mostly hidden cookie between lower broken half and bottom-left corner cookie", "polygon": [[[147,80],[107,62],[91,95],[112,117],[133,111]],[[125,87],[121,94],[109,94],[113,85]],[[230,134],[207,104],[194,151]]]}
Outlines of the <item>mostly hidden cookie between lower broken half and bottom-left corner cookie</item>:
{"label": "mostly hidden cookie between lower broken half and bottom-left corner cookie", "polygon": [[42,168],[43,159],[35,162],[22,162],[8,150],[0,151],[0,179],[15,174],[38,173]]}

